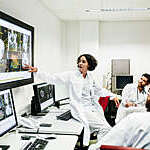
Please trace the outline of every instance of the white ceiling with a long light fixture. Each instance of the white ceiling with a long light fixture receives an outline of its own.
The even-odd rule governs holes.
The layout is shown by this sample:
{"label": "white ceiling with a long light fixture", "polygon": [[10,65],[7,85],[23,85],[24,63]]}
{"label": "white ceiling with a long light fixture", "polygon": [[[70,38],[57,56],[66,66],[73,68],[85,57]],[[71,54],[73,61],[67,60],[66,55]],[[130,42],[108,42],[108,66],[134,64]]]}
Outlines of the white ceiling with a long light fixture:
{"label": "white ceiling with a long light fixture", "polygon": [[[61,20],[150,20],[150,10],[143,10],[150,8],[150,0],[40,0],[40,2]],[[101,11],[108,8],[125,11]],[[128,8],[129,11],[126,10]]]}

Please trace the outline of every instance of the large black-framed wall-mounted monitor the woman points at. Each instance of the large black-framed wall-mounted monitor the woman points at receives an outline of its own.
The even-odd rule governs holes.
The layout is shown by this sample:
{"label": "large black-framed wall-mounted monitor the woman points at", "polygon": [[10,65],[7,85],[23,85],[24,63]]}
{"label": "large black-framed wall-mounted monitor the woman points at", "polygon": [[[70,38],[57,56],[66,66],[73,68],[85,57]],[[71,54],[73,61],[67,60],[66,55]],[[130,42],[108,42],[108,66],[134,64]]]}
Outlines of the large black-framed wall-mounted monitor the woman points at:
{"label": "large black-framed wall-mounted monitor the woman points at", "polygon": [[0,90],[33,83],[34,28],[0,11]]}

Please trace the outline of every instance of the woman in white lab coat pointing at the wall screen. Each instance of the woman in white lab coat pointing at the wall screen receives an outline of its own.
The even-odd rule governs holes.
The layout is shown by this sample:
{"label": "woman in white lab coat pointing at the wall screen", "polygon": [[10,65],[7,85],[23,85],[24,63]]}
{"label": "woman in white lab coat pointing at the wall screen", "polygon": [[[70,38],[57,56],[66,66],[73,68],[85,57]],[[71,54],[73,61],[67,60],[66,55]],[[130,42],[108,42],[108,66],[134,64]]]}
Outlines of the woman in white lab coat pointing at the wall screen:
{"label": "woman in white lab coat pointing at the wall screen", "polygon": [[78,119],[84,126],[83,145],[88,146],[90,133],[98,129],[99,134],[104,136],[110,129],[102,107],[98,103],[100,96],[112,96],[118,102],[115,95],[106,89],[96,86],[89,71],[97,66],[97,60],[89,55],[83,54],[77,59],[78,69],[59,74],[50,75],[41,72],[36,67],[26,65],[30,72],[37,72],[36,75],[50,84],[65,84],[69,89],[70,105],[72,116]]}

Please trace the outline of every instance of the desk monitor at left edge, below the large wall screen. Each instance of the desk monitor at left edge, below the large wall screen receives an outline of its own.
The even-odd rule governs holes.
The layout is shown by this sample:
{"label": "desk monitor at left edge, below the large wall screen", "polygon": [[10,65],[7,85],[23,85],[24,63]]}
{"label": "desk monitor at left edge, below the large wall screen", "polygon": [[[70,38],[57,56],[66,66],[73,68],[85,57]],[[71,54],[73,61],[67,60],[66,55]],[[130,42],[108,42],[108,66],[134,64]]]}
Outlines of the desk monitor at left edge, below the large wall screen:
{"label": "desk monitor at left edge, below the large wall screen", "polygon": [[10,89],[0,91],[0,136],[17,126],[13,95]]}

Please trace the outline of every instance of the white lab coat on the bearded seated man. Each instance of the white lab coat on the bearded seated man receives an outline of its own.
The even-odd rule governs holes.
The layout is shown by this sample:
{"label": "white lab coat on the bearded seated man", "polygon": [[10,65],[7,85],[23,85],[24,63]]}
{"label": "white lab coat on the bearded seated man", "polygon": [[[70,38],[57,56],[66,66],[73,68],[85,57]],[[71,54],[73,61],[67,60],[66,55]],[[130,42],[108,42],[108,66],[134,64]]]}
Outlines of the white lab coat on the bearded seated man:
{"label": "white lab coat on the bearded seated man", "polygon": [[[148,93],[147,89],[145,89],[144,93],[143,92],[139,93],[137,87],[138,87],[137,83],[127,84],[124,87],[122,91],[122,101],[116,115],[115,120],[116,123],[118,123],[121,119],[123,119],[130,113],[146,111],[145,103]],[[133,102],[137,104],[137,106],[125,107],[126,102]]]}

